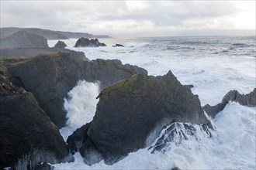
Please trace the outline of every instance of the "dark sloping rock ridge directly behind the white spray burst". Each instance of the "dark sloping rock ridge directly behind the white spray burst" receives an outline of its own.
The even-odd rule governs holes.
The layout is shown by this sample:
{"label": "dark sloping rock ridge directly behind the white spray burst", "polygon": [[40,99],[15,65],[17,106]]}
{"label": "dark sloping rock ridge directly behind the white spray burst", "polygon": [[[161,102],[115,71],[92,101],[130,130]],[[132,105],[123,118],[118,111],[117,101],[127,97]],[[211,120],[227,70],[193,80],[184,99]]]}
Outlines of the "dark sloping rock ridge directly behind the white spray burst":
{"label": "dark sloping rock ridge directly behind the white spray burst", "polygon": [[88,61],[77,53],[42,54],[16,61],[8,66],[9,79],[33,93],[51,121],[61,128],[66,123],[64,97],[78,80],[100,81],[109,86],[136,73],[147,71],[137,66],[123,65],[119,60],[96,59]]}

